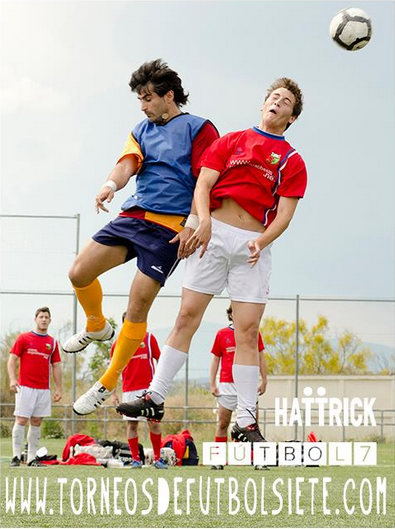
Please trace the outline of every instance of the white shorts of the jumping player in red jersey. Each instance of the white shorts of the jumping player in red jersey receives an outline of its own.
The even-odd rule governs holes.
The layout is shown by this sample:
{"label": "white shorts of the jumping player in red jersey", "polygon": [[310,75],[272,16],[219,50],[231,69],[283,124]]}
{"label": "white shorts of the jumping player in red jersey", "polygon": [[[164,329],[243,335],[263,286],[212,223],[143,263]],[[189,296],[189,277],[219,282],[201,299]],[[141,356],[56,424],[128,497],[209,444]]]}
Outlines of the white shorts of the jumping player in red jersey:
{"label": "white shorts of the jumping player in red jersey", "polygon": [[232,301],[267,303],[272,271],[270,246],[264,248],[255,266],[247,260],[247,243],[261,233],[242,230],[212,220],[212,234],[208,248],[200,259],[198,248],[187,260],[183,287],[203,294],[218,295],[227,289]]}

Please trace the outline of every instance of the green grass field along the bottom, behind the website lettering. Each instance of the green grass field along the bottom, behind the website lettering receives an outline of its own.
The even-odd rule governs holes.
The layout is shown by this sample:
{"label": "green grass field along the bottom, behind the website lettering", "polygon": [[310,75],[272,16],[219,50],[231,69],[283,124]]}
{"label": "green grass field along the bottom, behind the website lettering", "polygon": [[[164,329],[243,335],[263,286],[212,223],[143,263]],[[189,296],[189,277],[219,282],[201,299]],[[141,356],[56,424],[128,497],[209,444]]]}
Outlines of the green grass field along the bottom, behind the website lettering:
{"label": "green grass field along the bottom, behind the website lettering", "polygon": [[[41,445],[47,446],[49,453],[58,454],[60,459],[63,440],[43,440]],[[199,454],[201,453],[200,450]],[[270,471],[256,471],[252,467],[227,467],[223,471],[212,471],[204,466],[172,467],[168,470],[130,470],[127,467],[105,469],[87,466],[22,466],[13,469],[9,467],[10,439],[2,439],[1,455],[2,527],[395,526],[393,445],[379,445],[377,466],[277,467],[271,468]],[[13,495],[14,485],[16,486],[14,513],[10,505],[7,512],[7,478],[8,500]],[[311,478],[315,478],[314,492],[313,485],[309,482]],[[328,495],[325,499],[326,509],[330,510],[330,514],[323,512],[324,478],[331,480],[327,483]],[[350,486],[347,488],[345,506],[344,487],[350,478],[355,489]],[[380,478],[382,483],[386,479],[385,513],[384,495],[378,491],[377,478]],[[279,479],[283,480],[282,483]],[[25,499],[29,483],[32,487],[30,513],[26,510],[22,512],[22,481]],[[277,483],[275,489],[273,483]],[[40,497],[46,487],[45,513],[36,512],[37,485]],[[292,486],[290,494],[288,485]],[[233,491],[231,500],[230,490]],[[158,511],[158,505],[159,509],[165,512]],[[353,514],[347,514],[346,507],[354,508]],[[297,508],[304,510],[304,513],[298,514]],[[369,514],[364,514],[362,509],[369,511]],[[278,514],[273,511],[278,511]]]}

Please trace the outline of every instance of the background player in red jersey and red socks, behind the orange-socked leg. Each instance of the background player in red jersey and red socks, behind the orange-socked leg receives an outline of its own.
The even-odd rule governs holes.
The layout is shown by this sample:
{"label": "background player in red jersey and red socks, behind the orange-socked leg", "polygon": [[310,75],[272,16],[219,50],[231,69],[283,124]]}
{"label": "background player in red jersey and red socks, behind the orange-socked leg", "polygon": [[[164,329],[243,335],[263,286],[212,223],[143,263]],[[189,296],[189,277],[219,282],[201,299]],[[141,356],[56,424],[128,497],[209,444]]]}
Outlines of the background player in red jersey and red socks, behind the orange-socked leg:
{"label": "background player in red jersey and red socks, behind the orange-socked leg", "polygon": [[[126,312],[122,314],[122,322],[124,322]],[[111,358],[116,346],[116,340],[112,344]],[[140,347],[134,353],[129,363],[122,372],[122,402],[128,402],[135,399],[147,390],[152,377],[155,372],[155,362],[160,357],[160,349],[156,338],[151,333],[146,333],[144,341],[141,342]],[[120,402],[119,395],[115,391],[113,394],[113,403],[118,405]],[[124,416],[128,421],[126,427],[126,435],[130,452],[132,454],[131,468],[141,468],[144,461],[140,460],[139,456],[139,438],[138,438],[138,421],[147,420],[145,417],[138,419],[130,419]],[[160,423],[157,421],[148,421],[148,428],[150,431],[150,440],[154,451],[154,467],[158,469],[166,469],[167,464],[160,457],[160,448],[162,444],[162,433]]]}

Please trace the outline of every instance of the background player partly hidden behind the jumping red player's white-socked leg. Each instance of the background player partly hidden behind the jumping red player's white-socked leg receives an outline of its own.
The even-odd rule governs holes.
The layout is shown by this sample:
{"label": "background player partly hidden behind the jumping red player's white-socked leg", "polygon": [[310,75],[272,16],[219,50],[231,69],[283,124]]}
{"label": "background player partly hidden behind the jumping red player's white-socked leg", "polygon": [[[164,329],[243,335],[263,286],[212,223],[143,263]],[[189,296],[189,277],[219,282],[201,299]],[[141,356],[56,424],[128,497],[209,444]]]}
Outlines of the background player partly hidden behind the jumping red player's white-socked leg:
{"label": "background player partly hidden behind the jumping red player's white-socked leg", "polygon": [[[232,419],[232,413],[237,408],[237,390],[233,380],[233,361],[236,350],[235,331],[233,327],[232,307],[226,311],[230,324],[223,329],[220,329],[215,337],[211,352],[213,354],[210,366],[210,391],[217,397],[218,402],[218,423],[215,432],[215,442],[226,443],[228,441],[228,428]],[[263,395],[266,391],[266,362],[263,355],[264,345],[262,336],[258,334],[258,352],[259,352],[259,371],[261,382],[257,388],[258,396]],[[219,383],[216,378],[218,369]],[[256,411],[256,420],[258,422],[258,409]],[[213,470],[222,470],[222,465],[213,465]],[[258,468],[258,466],[256,467]],[[260,467],[259,468],[263,468]]]}

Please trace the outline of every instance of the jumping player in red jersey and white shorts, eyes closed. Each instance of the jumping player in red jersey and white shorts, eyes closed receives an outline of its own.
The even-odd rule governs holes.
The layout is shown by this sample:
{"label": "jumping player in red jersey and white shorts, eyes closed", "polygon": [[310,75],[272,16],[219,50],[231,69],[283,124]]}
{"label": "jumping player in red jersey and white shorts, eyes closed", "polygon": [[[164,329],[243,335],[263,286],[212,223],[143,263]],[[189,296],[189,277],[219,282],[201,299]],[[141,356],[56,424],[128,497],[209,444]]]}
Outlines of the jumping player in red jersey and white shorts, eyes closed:
{"label": "jumping player in red jersey and white shorts, eyes closed", "polygon": [[163,348],[149,393],[118,406],[136,416],[154,405],[162,411],[169,386],[184,365],[191,339],[212,297],[227,289],[232,302],[237,389],[235,440],[259,442],[255,421],[259,379],[258,332],[269,293],[270,247],[289,226],[307,175],[284,131],[302,112],[298,85],[282,78],[269,88],[258,127],[216,140],[202,158],[195,189],[199,225],[188,240],[181,308]]}

